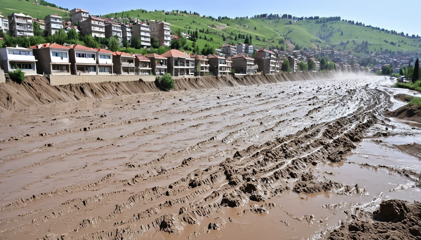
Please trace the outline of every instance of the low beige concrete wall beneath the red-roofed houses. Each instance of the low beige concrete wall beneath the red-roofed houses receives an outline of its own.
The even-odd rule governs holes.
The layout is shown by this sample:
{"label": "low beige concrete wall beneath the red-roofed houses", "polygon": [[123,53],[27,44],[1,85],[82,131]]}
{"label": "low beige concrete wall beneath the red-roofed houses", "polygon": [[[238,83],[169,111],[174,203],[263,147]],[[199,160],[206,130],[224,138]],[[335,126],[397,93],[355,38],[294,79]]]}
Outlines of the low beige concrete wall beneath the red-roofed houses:
{"label": "low beige concrete wall beneath the red-roofed houses", "polygon": [[[150,75],[48,75],[52,86],[78,83],[133,82],[140,79],[144,82],[153,82],[155,77]],[[183,77],[173,77],[173,79],[179,78]]]}

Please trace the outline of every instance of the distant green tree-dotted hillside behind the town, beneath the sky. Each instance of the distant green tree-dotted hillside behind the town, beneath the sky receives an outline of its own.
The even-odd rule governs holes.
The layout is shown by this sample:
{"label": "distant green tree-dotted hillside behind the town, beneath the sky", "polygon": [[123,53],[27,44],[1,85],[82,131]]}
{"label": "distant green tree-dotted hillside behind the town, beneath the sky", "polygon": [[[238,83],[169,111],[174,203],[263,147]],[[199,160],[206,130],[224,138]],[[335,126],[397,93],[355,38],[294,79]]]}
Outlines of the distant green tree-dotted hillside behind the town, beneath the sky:
{"label": "distant green tree-dotted hillside behind the town, beneath the sky", "polygon": [[[235,18],[222,19],[220,21],[210,18],[203,18],[197,15],[171,12],[165,15],[164,11],[146,11],[131,10],[119,13],[110,13],[103,15],[104,17],[131,17],[141,20],[156,19],[157,21],[166,21],[171,24],[171,30],[176,31],[182,29],[183,32],[196,29],[209,30],[209,34],[200,32],[199,36],[208,40],[199,39],[200,47],[205,43],[215,48],[221,47],[224,43],[222,34],[225,37],[232,34],[235,35],[251,34],[253,45],[258,48],[262,47],[280,47],[286,45],[285,39],[292,41],[295,45],[299,45],[301,49],[317,48],[340,50],[342,52],[351,53],[389,53],[390,51],[421,52],[421,39],[408,39],[406,37],[389,34],[381,30],[372,29],[371,27],[357,26],[349,24],[345,21],[328,21],[325,23],[316,23],[315,20],[293,21],[292,19],[281,18]],[[290,23],[291,21],[291,23]],[[255,30],[256,28],[256,30]],[[235,35],[234,35],[235,34]],[[210,41],[212,37],[213,41]],[[260,40],[259,40],[260,39]],[[386,40],[386,42],[385,42]],[[244,42],[243,39],[230,40],[229,42]],[[362,44],[364,41],[364,44]],[[367,43],[365,43],[367,42]]]}

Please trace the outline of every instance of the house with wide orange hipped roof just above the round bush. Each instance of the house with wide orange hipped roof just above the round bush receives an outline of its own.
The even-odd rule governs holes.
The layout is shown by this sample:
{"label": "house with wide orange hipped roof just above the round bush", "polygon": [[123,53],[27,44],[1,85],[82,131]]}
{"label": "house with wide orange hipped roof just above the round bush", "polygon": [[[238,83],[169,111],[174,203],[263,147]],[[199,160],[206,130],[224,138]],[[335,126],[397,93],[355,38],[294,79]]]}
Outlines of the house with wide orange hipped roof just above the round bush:
{"label": "house with wide orange hipped roof just above the round bush", "polygon": [[171,49],[162,54],[168,58],[168,73],[172,76],[184,76],[195,74],[195,59],[189,54],[176,49]]}

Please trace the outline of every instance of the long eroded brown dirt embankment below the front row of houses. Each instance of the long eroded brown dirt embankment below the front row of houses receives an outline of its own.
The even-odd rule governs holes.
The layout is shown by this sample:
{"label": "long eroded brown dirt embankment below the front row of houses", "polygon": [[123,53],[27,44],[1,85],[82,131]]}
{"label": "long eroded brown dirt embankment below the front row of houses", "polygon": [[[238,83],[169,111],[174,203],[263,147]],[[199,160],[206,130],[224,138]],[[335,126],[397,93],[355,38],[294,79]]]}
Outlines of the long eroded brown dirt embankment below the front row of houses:
{"label": "long eroded brown dirt embankment below the front row of houses", "polygon": [[[286,81],[331,78],[333,73],[282,73],[276,75],[222,76],[176,79],[175,91],[221,87],[249,86]],[[51,86],[44,76],[27,76],[24,84],[6,80],[0,84],[0,112],[27,109],[32,106],[83,99],[113,98],[122,95],[160,92],[154,82],[103,82]]]}

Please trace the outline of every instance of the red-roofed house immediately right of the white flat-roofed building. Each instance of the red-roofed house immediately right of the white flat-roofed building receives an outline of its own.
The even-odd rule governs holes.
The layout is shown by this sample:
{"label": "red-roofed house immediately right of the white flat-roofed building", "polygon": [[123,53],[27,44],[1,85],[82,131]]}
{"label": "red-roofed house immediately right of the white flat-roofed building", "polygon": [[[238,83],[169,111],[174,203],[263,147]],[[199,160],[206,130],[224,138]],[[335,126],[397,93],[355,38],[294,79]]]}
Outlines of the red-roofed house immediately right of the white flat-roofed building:
{"label": "red-roofed house immediately right of the white flat-roofed building", "polygon": [[37,58],[37,74],[70,74],[69,47],[45,43],[29,47]]}

